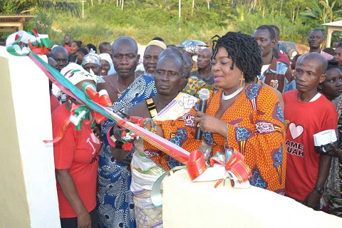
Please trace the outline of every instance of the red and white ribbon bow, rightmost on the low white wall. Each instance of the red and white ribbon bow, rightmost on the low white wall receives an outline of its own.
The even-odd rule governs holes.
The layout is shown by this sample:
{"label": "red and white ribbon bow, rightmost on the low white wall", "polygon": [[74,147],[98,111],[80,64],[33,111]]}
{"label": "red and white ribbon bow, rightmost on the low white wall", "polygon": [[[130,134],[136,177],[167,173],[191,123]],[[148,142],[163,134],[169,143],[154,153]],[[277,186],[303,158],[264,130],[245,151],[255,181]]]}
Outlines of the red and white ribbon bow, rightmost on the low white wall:
{"label": "red and white ribbon bow, rightmost on the low white wall", "polygon": [[[249,177],[252,175],[251,169],[246,162],[244,162],[244,155],[234,148],[229,148],[225,155],[222,152],[218,152],[214,155],[210,160],[210,165],[214,166],[215,163],[224,165],[224,168],[232,176],[231,182],[233,187],[237,184],[236,181],[238,181],[239,184],[248,182]],[[225,178],[227,177],[221,178],[215,187],[217,187]]]}

